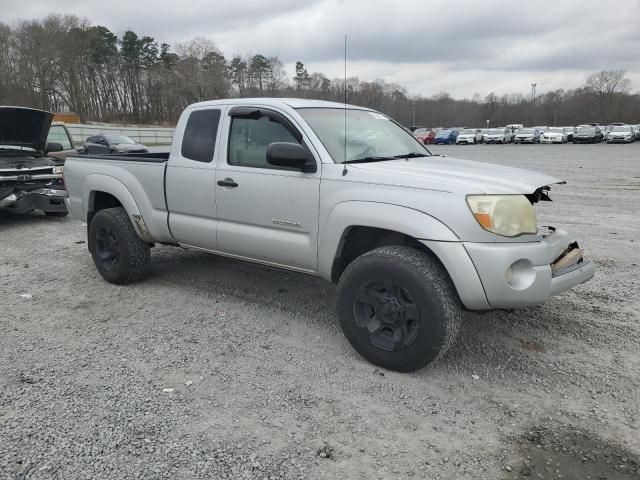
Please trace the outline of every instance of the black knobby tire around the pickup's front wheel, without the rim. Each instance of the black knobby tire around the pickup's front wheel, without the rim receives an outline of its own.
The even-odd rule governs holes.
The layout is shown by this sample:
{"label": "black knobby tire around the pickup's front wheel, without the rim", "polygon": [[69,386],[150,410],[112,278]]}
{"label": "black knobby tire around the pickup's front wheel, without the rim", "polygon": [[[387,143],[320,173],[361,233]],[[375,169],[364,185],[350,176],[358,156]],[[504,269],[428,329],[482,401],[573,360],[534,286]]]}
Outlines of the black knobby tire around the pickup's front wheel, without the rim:
{"label": "black knobby tire around the pickup's front wheel, without the rim", "polygon": [[[397,282],[419,312],[415,340],[400,350],[380,348],[369,330],[358,325],[359,295],[377,279]],[[453,345],[462,323],[460,298],[446,270],[431,255],[406,246],[377,248],[349,264],[338,282],[337,309],[353,348],[374,365],[400,372],[418,370],[440,358]]]}

